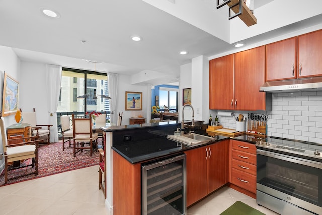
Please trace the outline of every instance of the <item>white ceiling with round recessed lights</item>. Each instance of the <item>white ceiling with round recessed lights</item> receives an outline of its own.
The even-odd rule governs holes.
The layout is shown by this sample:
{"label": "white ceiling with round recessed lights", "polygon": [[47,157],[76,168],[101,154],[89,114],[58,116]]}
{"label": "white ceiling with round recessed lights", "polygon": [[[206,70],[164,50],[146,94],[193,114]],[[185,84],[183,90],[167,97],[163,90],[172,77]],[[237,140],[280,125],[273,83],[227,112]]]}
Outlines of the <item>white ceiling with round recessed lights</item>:
{"label": "white ceiling with round recessed lights", "polygon": [[[0,0],[0,45],[12,47],[23,61],[94,70],[83,60],[87,59],[104,62],[96,65],[97,71],[163,75],[164,79],[136,83],[156,85],[177,81],[180,66],[194,57],[233,50],[231,43],[239,36],[240,41],[254,44],[307,23],[322,23],[322,7],[315,7],[319,9],[302,17],[293,10],[290,21],[262,30],[261,10],[290,0],[254,1],[258,24],[247,27],[239,18],[229,21],[228,9],[216,9],[216,0]],[[43,8],[58,12],[60,18],[46,17]],[[238,26],[244,30],[236,39]],[[142,40],[132,41],[133,35]],[[188,54],[180,55],[182,50]]]}

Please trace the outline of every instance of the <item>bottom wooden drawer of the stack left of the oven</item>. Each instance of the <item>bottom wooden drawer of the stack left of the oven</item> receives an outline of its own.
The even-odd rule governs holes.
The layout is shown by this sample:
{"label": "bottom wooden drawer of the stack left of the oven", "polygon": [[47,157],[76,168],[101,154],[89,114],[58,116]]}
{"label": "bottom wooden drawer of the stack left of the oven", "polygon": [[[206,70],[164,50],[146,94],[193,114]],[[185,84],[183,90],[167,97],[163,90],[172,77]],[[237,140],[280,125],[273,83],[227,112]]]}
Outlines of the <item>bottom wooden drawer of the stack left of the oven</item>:
{"label": "bottom wooden drawer of the stack left of the oven", "polygon": [[256,176],[254,175],[232,168],[231,182],[238,187],[256,193]]}

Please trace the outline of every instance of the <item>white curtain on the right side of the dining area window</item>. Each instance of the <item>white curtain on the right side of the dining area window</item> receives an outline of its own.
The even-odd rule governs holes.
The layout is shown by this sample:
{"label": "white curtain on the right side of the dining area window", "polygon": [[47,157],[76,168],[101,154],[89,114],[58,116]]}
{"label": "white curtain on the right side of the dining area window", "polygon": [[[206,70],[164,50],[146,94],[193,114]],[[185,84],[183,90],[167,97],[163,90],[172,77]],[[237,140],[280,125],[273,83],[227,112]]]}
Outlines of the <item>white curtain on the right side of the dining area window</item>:
{"label": "white curtain on the right side of the dining area window", "polygon": [[118,91],[118,74],[116,73],[108,73],[108,83],[109,83],[109,96],[112,98],[110,99],[110,107],[111,107],[111,125],[116,125],[116,116],[118,113],[116,111],[116,102],[117,102],[117,91]]}

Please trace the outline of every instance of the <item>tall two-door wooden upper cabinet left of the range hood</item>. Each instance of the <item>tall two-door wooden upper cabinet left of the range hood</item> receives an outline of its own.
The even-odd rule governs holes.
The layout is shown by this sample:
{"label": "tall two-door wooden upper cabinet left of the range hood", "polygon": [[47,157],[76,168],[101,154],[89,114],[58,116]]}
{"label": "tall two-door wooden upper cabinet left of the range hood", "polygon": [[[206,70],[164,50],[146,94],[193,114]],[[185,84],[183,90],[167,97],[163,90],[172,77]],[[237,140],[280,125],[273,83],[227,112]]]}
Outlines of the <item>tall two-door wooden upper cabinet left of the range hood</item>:
{"label": "tall two-door wooden upper cabinet left of the range hood", "polygon": [[209,108],[269,110],[265,92],[265,46],[238,52],[209,63]]}

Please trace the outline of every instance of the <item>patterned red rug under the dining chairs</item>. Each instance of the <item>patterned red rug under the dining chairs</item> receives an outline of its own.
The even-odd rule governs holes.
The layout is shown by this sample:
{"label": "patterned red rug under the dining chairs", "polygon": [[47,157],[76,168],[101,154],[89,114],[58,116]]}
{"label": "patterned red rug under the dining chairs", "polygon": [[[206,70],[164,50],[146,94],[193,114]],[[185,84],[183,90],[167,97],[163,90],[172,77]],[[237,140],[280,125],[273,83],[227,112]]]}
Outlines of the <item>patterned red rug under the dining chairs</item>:
{"label": "patterned red rug under the dining chairs", "polygon": [[[99,138],[99,142],[100,142]],[[102,141],[102,140],[101,140]],[[70,170],[80,169],[97,165],[99,163],[99,153],[93,152],[93,156],[90,156],[89,151],[83,150],[73,157],[73,149],[65,149],[62,151],[62,142],[56,142],[55,144],[39,145],[39,158],[38,158],[38,175],[35,174],[20,177],[17,179],[9,180],[5,184],[5,172],[0,175],[0,186],[14,184],[21,181],[27,181],[35,178],[40,178],[48,175],[62,173]],[[25,163],[31,163],[31,159],[25,161]],[[23,175],[26,172],[33,172],[35,168],[26,167],[8,172],[8,178],[15,177],[17,175]]]}

